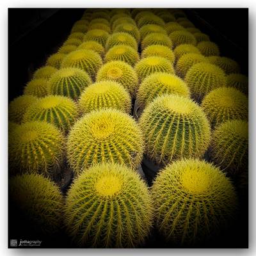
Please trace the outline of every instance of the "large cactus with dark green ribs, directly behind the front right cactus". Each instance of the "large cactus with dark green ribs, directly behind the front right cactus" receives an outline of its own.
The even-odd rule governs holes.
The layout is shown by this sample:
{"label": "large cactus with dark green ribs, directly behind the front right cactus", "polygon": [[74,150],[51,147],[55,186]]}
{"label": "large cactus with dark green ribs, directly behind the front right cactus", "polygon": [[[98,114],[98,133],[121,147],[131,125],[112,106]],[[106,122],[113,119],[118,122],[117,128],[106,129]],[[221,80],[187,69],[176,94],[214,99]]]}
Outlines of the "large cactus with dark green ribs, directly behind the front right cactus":
{"label": "large cactus with dark green ribs, directly behind the front right cactus", "polygon": [[140,118],[147,156],[157,164],[202,157],[210,125],[200,106],[187,97],[163,95],[148,104]]}

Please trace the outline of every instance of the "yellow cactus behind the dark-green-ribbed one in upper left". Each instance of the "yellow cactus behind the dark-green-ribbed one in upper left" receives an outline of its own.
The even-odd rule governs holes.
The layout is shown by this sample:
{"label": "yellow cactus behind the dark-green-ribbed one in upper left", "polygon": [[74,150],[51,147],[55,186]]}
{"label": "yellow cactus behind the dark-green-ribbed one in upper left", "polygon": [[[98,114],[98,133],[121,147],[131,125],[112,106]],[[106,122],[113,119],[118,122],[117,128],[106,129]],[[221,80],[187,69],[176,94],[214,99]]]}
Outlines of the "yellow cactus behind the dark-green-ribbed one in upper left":
{"label": "yellow cactus behind the dark-green-ribbed one in upper left", "polygon": [[91,50],[77,50],[70,52],[63,59],[61,68],[81,68],[84,70],[92,79],[102,66],[102,58],[95,51]]}

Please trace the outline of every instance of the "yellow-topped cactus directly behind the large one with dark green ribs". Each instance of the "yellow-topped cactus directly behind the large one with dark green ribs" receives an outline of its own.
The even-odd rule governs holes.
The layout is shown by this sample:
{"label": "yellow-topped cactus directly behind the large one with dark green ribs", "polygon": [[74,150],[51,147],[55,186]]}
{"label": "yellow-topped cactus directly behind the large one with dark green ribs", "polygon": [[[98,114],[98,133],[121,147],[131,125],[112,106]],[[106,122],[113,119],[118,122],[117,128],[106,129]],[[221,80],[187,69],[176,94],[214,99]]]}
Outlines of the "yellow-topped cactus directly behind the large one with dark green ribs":
{"label": "yellow-topped cactus directly behind the large one with dark green ribs", "polygon": [[182,79],[175,75],[161,72],[154,73],[146,77],[138,89],[136,97],[138,106],[143,109],[157,96],[166,93],[189,97],[189,88]]}

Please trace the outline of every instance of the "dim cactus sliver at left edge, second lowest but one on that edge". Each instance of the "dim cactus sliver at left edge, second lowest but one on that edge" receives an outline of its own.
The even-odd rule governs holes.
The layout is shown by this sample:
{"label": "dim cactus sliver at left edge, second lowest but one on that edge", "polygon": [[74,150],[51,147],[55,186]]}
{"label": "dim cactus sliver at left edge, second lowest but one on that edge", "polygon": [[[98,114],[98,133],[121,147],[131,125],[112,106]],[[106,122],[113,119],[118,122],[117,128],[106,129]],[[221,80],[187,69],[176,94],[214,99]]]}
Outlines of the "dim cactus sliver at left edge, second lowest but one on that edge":
{"label": "dim cactus sliver at left edge, second lowest but one on that edge", "polygon": [[36,102],[36,100],[38,100],[38,98],[33,95],[22,95],[12,100],[8,109],[9,120],[20,124],[24,113],[32,103]]}

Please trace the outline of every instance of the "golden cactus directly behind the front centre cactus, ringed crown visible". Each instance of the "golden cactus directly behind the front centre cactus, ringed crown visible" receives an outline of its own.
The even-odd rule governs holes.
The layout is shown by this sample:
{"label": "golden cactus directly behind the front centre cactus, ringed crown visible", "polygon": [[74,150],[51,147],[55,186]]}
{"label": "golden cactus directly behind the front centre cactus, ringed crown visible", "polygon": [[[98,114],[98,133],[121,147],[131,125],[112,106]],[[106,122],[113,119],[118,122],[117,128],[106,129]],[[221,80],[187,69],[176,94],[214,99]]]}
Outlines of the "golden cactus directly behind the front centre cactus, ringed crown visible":
{"label": "golden cactus directly behind the front centre cactus, ringed crown visible", "polygon": [[143,155],[143,137],[131,116],[103,109],[76,122],[68,135],[67,148],[68,162],[76,175],[106,161],[136,169]]}

